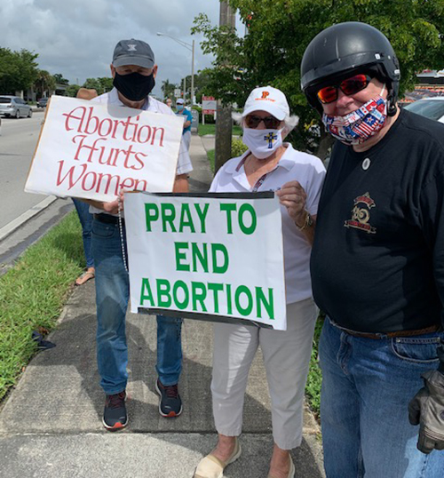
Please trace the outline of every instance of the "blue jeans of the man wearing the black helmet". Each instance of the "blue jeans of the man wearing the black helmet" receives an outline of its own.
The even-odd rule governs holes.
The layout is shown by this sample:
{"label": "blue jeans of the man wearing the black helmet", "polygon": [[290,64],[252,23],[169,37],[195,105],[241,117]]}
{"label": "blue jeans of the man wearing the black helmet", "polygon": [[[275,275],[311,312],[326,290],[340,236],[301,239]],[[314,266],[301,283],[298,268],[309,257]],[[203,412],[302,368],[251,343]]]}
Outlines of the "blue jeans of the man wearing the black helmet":
{"label": "blue jeans of the man wearing the black helmet", "polygon": [[444,333],[362,339],[328,319],[320,340],[321,426],[327,478],[442,478],[444,451],[416,449],[408,402],[438,368]]}

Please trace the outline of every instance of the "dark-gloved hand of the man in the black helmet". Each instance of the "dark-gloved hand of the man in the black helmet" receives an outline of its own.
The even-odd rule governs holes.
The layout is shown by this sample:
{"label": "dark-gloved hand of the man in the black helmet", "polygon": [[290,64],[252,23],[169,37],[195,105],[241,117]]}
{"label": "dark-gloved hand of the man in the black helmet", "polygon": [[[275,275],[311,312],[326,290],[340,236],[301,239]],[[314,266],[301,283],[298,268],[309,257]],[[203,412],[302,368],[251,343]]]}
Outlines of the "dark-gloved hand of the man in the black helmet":
{"label": "dark-gloved hand of the man in the black helmet", "polygon": [[444,450],[444,375],[429,370],[421,376],[424,387],[408,403],[408,420],[419,425],[418,450]]}

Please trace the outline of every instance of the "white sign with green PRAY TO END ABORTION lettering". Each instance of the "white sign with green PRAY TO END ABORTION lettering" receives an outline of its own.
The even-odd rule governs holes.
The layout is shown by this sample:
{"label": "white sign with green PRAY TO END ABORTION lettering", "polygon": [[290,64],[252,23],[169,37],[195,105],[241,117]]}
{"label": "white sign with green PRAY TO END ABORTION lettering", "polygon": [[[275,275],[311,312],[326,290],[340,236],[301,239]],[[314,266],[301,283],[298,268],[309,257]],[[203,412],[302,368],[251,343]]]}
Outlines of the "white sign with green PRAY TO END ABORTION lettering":
{"label": "white sign with green PRAY TO END ABORTION lettering", "polygon": [[273,193],[125,194],[131,312],[286,330],[279,200]]}

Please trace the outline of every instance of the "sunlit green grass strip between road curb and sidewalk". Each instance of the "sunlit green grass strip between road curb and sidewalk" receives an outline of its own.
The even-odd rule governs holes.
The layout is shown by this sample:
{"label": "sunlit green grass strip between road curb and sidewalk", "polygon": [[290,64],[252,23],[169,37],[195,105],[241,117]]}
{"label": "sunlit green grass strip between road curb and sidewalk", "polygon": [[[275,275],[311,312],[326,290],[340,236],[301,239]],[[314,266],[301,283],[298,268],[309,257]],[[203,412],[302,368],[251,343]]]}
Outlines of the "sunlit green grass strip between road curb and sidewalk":
{"label": "sunlit green grass strip between road curb and sidewalk", "polygon": [[75,211],[0,277],[0,400],[36,353],[32,331],[51,331],[84,267]]}

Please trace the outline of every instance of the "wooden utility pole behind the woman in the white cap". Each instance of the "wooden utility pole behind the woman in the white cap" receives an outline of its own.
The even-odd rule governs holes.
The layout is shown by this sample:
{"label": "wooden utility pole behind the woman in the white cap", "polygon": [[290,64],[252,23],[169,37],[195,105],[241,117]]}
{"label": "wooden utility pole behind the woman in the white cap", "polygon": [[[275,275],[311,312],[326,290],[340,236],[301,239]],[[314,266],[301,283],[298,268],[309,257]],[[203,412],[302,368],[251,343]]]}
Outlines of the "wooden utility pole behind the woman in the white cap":
{"label": "wooden utility pole behind the woman in the white cap", "polygon": [[[228,25],[234,29],[235,10],[227,3],[220,2],[219,26]],[[215,169],[223,166],[231,158],[231,139],[233,134],[233,119],[231,117],[231,106],[223,106],[218,100],[216,117],[216,151]]]}

